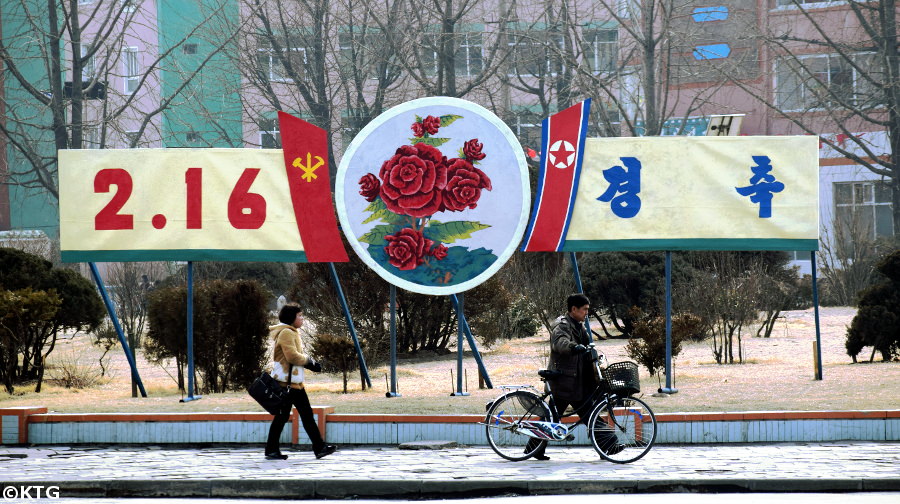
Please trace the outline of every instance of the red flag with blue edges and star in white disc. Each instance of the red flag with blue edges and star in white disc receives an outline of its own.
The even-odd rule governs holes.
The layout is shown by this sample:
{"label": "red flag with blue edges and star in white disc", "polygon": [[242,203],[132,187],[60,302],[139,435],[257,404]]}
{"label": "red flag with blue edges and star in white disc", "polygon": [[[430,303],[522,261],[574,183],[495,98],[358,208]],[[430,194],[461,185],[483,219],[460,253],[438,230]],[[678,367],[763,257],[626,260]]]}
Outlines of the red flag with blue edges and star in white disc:
{"label": "red flag with blue edges and star in white disc", "polygon": [[589,98],[544,119],[541,173],[522,245],[525,252],[556,252],[565,243],[578,192],[590,109]]}

